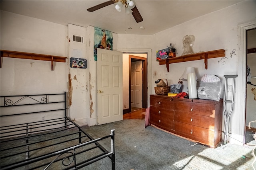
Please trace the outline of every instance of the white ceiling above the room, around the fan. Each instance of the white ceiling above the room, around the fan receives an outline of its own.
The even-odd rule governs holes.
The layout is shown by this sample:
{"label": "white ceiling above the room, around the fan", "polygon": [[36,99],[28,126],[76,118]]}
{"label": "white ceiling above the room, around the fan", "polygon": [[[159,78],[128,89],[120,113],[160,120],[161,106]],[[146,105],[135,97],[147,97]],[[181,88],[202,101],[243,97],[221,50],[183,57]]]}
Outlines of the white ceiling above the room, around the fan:
{"label": "white ceiling above the room, around the fan", "polygon": [[[118,34],[153,35],[175,25],[237,4],[238,0],[136,0],[142,18],[136,23],[126,15],[124,7],[116,11],[114,4],[88,12],[86,9],[107,0],[1,0],[1,10],[46,20],[61,25],[92,25]],[[140,29],[143,26],[144,29]],[[132,29],[128,29],[131,27]]]}

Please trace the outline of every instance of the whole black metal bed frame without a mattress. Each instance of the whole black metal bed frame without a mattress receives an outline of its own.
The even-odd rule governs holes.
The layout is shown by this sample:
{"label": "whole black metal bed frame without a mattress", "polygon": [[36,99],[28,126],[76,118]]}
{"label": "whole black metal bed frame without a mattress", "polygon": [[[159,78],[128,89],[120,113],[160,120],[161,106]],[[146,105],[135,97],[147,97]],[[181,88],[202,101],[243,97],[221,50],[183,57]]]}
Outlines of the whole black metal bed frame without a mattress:
{"label": "whole black metal bed frame without a mattress", "polygon": [[[106,157],[111,159],[112,170],[115,170],[114,130],[111,130],[110,135],[93,139],[67,116],[66,97],[66,92],[0,96],[1,170],[14,168],[32,170],[54,167],[55,169],[56,167],[57,169],[79,169]],[[11,113],[8,113],[8,109],[11,110]],[[18,113],[12,113],[13,110],[18,110]],[[22,110],[25,112],[19,113]],[[42,117],[46,114],[48,117],[54,117],[49,114],[55,113],[57,116],[62,116],[51,119]],[[2,126],[2,124],[12,122],[17,118],[26,121],[31,117],[33,122]],[[50,139],[48,139],[49,135]],[[111,138],[111,151],[106,150],[98,143],[107,138]],[[74,141],[79,141],[79,143],[76,142],[78,144],[73,145]],[[54,150],[54,148],[61,149]],[[95,149],[100,151],[96,151],[96,155],[91,154]],[[38,155],[39,152],[40,155]]]}

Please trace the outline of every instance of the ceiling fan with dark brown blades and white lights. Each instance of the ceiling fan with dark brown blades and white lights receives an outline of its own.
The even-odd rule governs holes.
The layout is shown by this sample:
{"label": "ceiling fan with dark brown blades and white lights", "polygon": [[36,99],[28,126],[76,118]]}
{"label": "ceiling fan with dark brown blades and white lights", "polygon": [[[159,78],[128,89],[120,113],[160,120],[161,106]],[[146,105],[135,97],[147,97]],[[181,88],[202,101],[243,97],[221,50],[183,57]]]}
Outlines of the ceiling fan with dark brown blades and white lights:
{"label": "ceiling fan with dark brown blades and white lights", "polygon": [[125,6],[126,14],[132,13],[132,16],[134,17],[136,22],[143,21],[143,18],[140,15],[138,8],[135,6],[134,1],[132,0],[109,0],[107,2],[103,2],[102,4],[98,4],[96,6],[88,8],[87,11],[94,12],[96,10],[99,10],[100,8],[104,8],[105,6],[109,6],[111,4],[116,4],[115,8],[118,12],[121,12],[122,6]]}

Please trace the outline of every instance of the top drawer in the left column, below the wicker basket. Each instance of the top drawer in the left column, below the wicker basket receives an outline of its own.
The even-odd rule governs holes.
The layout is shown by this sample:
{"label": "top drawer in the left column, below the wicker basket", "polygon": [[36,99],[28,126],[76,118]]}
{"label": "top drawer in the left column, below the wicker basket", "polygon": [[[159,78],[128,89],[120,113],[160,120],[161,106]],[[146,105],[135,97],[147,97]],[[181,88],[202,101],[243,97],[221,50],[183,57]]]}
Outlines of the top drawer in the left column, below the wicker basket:
{"label": "top drawer in the left column, below the wicker basket", "polygon": [[150,106],[161,107],[163,109],[174,109],[172,98],[163,98],[157,96],[150,96]]}

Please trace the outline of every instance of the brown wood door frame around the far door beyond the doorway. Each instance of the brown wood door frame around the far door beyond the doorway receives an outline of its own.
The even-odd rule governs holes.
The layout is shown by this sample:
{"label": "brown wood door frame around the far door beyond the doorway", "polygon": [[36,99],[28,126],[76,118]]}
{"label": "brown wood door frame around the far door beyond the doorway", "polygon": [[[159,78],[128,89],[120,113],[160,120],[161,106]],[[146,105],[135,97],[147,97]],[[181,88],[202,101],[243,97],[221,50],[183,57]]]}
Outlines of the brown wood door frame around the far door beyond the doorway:
{"label": "brown wood door frame around the far door beyond the doorway", "polygon": [[147,108],[148,104],[148,64],[147,58],[129,54],[129,112],[131,112],[131,63],[132,59],[142,61],[142,108]]}

